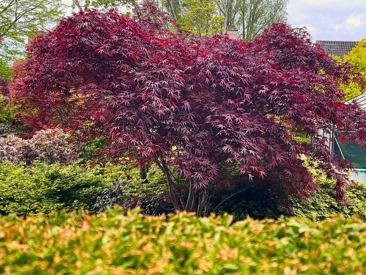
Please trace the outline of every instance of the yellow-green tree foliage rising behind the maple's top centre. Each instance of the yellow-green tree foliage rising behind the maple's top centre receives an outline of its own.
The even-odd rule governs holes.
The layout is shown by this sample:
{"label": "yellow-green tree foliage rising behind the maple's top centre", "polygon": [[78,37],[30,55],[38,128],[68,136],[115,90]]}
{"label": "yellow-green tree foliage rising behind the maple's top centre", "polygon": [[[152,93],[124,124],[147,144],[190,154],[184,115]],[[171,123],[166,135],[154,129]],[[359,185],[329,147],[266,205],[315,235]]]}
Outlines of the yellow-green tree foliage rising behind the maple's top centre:
{"label": "yellow-green tree foliage rising behind the maple's top centre", "polygon": [[219,15],[217,3],[212,0],[183,0],[181,14],[177,21],[182,30],[188,30],[193,35],[213,36],[222,32],[221,24],[225,17]]}

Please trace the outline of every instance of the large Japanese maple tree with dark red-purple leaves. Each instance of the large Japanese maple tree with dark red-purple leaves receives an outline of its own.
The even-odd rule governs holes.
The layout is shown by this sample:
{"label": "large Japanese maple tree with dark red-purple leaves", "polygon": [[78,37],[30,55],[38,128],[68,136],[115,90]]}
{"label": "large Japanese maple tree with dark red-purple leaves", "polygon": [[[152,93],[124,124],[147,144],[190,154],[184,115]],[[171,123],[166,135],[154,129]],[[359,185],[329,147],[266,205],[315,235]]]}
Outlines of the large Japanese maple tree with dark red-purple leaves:
{"label": "large Japanese maple tree with dark red-purple leaves", "polygon": [[176,210],[207,215],[217,188],[236,194],[260,182],[306,199],[318,189],[306,161],[343,199],[352,165],[333,156],[319,130],[365,144],[366,114],[342,103],[339,88],[361,75],[303,29],[274,24],[245,43],[187,38],[164,29],[165,20],[151,3],[129,17],[86,10],[65,18],[27,48],[12,96],[80,99],[70,120],[79,139],[104,137],[111,159],[155,162]]}

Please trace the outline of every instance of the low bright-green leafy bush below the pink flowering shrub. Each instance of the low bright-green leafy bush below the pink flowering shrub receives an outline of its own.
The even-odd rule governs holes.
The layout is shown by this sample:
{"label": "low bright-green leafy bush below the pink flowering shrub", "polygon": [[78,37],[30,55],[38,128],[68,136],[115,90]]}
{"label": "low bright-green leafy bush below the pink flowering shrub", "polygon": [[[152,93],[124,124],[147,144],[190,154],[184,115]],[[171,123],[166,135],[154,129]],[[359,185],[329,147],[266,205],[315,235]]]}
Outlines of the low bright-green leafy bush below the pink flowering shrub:
{"label": "low bright-green leafy bush below the pink flowering shrub", "polygon": [[94,197],[122,175],[120,168],[85,168],[78,165],[12,166],[0,162],[0,212],[49,213],[90,208]]}

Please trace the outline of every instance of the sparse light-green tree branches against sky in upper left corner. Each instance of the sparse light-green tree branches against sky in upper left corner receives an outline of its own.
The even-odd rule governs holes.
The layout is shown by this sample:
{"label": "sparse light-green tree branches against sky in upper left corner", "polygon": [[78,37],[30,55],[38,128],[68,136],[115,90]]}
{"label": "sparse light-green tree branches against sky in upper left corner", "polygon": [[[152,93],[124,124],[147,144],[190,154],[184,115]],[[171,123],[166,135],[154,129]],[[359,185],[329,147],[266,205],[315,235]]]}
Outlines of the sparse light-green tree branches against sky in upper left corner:
{"label": "sparse light-green tree branches against sky in upper left corner", "polygon": [[61,0],[0,1],[0,77],[9,76],[9,64],[22,55],[27,38],[56,22],[62,8]]}

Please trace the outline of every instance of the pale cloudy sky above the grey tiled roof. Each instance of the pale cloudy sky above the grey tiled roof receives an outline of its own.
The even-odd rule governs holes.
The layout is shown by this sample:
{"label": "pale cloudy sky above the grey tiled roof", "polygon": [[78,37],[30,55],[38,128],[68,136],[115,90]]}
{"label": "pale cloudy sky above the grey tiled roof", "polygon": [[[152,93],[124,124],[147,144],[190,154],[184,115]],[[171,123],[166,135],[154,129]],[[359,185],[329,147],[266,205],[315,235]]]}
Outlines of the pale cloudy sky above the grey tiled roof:
{"label": "pale cloudy sky above the grey tiled roof", "polygon": [[289,0],[287,11],[288,23],[306,26],[314,42],[366,38],[366,0]]}

